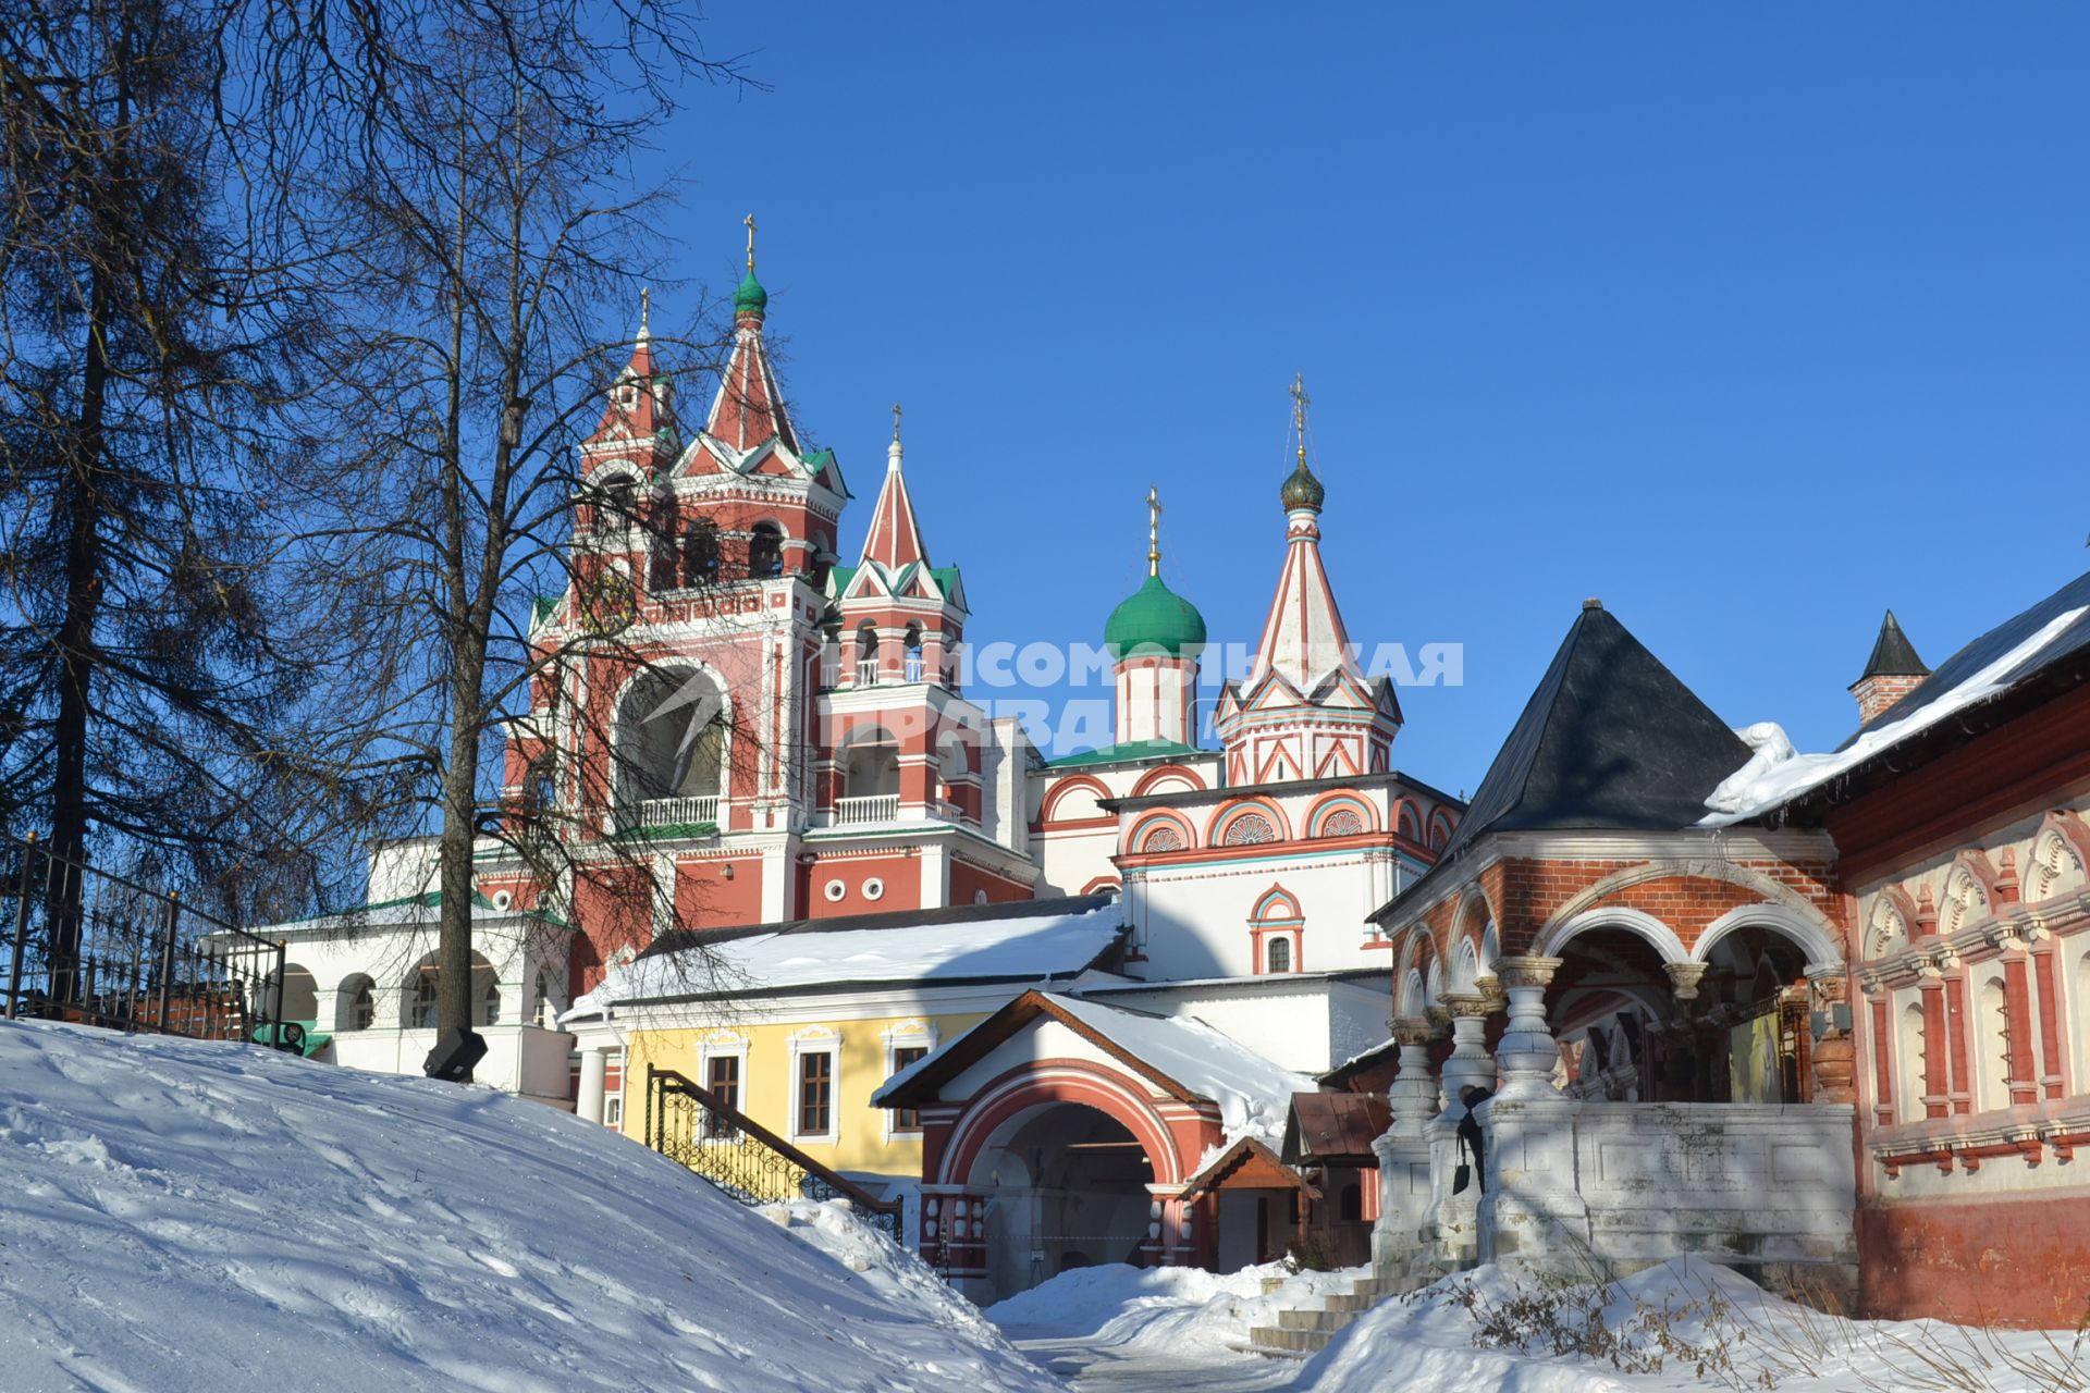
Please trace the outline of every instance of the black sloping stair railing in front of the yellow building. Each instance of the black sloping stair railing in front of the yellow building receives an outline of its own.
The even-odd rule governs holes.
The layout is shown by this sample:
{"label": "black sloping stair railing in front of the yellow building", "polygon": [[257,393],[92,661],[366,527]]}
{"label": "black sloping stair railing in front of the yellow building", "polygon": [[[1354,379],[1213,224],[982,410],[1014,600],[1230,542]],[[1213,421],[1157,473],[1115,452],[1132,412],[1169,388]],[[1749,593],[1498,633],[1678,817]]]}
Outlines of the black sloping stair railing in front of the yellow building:
{"label": "black sloping stair railing in front of the yellow building", "polygon": [[646,1144],[742,1205],[846,1199],[901,1243],[901,1201],[876,1199],[675,1069],[646,1067]]}

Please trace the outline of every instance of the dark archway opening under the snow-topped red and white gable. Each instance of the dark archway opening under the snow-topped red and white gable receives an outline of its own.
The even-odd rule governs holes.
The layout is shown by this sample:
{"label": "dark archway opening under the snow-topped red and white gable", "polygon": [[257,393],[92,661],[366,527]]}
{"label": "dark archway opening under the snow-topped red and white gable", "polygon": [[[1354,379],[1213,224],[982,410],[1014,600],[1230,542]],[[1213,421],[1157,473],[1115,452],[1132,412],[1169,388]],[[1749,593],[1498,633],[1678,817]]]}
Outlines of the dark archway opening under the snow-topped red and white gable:
{"label": "dark archway opening under the snow-topped red and white gable", "polygon": [[1145,1261],[1154,1159],[1085,1103],[1041,1103],[980,1147],[966,1188],[984,1203],[995,1299],[1074,1268]]}

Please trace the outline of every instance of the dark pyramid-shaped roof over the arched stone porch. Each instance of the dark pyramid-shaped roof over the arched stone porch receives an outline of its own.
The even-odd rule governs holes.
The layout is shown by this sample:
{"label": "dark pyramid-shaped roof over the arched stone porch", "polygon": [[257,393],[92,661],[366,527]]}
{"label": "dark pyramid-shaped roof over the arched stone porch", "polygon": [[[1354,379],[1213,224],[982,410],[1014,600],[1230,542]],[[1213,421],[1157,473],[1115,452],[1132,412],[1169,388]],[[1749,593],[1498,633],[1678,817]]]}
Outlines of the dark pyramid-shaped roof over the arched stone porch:
{"label": "dark pyramid-shaped roof over the arched stone porch", "polygon": [[1691,687],[1584,601],[1438,865],[1490,831],[1691,827],[1747,758]]}

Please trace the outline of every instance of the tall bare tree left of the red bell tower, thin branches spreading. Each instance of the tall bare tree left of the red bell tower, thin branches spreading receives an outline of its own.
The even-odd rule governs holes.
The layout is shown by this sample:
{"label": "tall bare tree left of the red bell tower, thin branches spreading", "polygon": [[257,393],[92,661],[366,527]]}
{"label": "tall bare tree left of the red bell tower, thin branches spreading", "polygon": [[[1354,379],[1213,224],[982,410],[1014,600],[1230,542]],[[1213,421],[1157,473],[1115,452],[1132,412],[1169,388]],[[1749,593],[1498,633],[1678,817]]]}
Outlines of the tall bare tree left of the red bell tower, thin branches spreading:
{"label": "tall bare tree left of the red bell tower, thin branches spreading", "polygon": [[[656,528],[654,499],[604,491],[575,447],[631,355],[608,343],[606,309],[637,305],[658,246],[660,194],[627,192],[623,163],[665,102],[658,52],[721,71],[650,21],[665,48],[631,71],[640,46],[596,44],[591,19],[537,0],[395,15],[376,58],[351,65],[374,77],[343,88],[353,119],[318,142],[326,178],[299,219],[320,230],[305,236],[341,305],[316,345],[334,464],[299,512],[326,518],[307,526],[305,599],[334,616],[347,681],[309,748],[364,833],[433,829],[443,1030],[472,1023],[485,840],[573,898],[577,877],[646,906],[663,894],[644,844],[604,835],[591,789],[529,798],[539,779],[502,769],[512,739],[533,739],[533,693],[568,687],[560,668],[650,662],[631,583],[573,543],[577,528]],[[322,67],[339,73],[339,54]],[[309,152],[295,163],[314,167]],[[646,376],[637,391],[671,391]],[[673,541],[646,551],[673,556]],[[545,643],[543,606],[564,595],[573,612]],[[564,718],[602,712],[583,702]]]}

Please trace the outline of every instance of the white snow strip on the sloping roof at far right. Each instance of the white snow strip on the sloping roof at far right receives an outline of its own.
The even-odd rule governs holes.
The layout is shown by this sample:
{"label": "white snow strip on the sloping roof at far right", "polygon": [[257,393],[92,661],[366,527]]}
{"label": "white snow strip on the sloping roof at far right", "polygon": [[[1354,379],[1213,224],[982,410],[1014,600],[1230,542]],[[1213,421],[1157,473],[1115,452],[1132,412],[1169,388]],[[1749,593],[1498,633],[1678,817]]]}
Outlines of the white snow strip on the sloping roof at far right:
{"label": "white snow strip on the sloping roof at far right", "polygon": [[[1829,754],[1797,754],[1793,750],[1793,741],[1787,739],[1785,729],[1779,727],[1776,721],[1760,721],[1758,725],[1739,731],[1756,754],[1751,754],[1747,764],[1722,779],[1720,785],[1705,796],[1705,806],[1712,808],[1712,812],[1699,819],[1699,825],[1731,827],[1733,823],[1762,817],[1772,808],[1799,798],[1808,789],[1820,787],[1829,779],[1864,764],[1883,750],[1931,729],[1940,721],[1963,712],[1977,702],[2000,695],[2019,677],[2025,677],[2031,668],[2036,668],[2040,654],[2054,639],[2073,629],[2084,614],[2090,614],[2090,606],[2077,606],[2054,614],[2050,620],[2031,631],[2031,635],[2011,645],[2000,658],[1975,668],[1956,683],[1948,681],[1942,689],[1925,691],[1921,704],[1910,702],[1906,716],[1868,727],[1841,750],[1833,750]],[[1944,668],[1940,668],[1940,675],[1950,679]],[[1931,677],[1931,681],[1937,681],[1937,677]]]}

